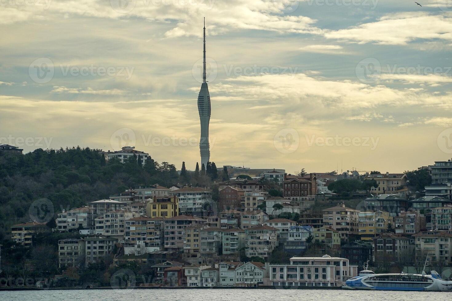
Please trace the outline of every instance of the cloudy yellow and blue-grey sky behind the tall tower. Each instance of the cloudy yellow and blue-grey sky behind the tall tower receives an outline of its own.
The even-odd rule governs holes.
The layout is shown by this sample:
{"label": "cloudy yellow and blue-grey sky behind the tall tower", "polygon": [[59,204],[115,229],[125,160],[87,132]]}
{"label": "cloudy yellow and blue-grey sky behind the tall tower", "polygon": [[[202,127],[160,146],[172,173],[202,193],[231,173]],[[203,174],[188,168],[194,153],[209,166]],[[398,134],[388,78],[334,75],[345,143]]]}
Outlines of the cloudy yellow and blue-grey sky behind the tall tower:
{"label": "cloudy yellow and blue-grey sky behind the tall tower", "polygon": [[[419,2],[419,1],[418,1]],[[217,167],[403,172],[452,157],[452,0],[0,0],[0,143]]]}

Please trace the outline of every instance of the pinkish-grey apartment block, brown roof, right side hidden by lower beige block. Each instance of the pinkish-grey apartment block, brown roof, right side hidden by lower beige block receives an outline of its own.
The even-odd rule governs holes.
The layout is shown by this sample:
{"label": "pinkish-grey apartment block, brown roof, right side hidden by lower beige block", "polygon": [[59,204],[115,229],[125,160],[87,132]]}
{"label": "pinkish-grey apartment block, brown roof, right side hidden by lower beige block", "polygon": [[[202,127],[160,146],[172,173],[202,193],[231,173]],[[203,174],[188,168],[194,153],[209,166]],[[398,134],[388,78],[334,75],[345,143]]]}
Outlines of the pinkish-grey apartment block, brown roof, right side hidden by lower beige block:
{"label": "pinkish-grey apartment block, brown roof, right side hidden by lower beige block", "polygon": [[201,225],[206,222],[203,218],[191,215],[179,215],[166,218],[164,221],[164,241],[166,251],[184,250],[184,229],[190,226]]}

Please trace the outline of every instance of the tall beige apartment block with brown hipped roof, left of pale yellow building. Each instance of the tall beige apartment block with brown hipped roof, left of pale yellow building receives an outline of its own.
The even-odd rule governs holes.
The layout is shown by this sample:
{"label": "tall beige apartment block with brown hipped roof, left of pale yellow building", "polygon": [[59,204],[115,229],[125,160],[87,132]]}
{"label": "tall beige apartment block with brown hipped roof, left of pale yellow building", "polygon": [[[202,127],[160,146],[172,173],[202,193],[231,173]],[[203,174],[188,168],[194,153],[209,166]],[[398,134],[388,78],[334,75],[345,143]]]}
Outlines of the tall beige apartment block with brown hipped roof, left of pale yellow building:
{"label": "tall beige apartment block with brown hipped roof, left of pale yellow building", "polygon": [[323,225],[339,231],[341,240],[349,241],[358,236],[359,210],[347,208],[345,204],[322,210]]}

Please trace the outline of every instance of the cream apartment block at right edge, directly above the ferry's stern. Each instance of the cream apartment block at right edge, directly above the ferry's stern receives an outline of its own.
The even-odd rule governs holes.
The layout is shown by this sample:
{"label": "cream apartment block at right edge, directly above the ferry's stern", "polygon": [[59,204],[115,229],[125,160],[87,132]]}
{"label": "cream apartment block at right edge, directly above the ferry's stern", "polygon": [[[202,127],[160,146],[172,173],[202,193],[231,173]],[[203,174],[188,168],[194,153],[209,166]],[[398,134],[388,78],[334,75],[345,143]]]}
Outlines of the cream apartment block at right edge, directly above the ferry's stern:
{"label": "cream apartment block at right edge, directly above the ferry's stern", "polygon": [[452,264],[452,234],[443,231],[422,231],[414,234],[416,257],[422,260],[430,256],[431,261]]}

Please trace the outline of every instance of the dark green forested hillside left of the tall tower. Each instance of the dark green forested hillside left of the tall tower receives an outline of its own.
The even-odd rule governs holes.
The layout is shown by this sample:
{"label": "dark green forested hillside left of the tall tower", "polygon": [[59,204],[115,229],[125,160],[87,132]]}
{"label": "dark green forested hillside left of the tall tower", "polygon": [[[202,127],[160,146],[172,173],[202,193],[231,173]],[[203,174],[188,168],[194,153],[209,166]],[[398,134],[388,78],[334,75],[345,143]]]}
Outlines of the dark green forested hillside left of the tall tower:
{"label": "dark green forested hillside left of the tall tower", "polygon": [[[185,177],[188,180],[187,171]],[[145,162],[132,157],[122,164],[105,162],[98,150],[80,147],[39,148],[24,155],[0,152],[0,241],[11,225],[30,220],[28,208],[36,199],[50,199],[58,213],[135,185],[169,187],[179,180],[173,164],[159,164],[151,157]]]}

